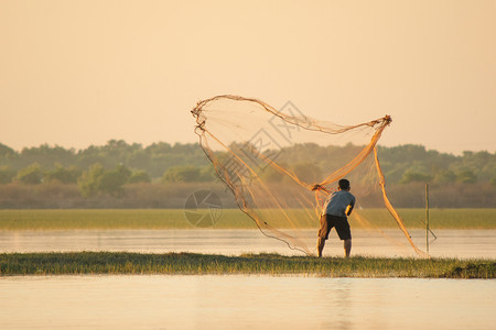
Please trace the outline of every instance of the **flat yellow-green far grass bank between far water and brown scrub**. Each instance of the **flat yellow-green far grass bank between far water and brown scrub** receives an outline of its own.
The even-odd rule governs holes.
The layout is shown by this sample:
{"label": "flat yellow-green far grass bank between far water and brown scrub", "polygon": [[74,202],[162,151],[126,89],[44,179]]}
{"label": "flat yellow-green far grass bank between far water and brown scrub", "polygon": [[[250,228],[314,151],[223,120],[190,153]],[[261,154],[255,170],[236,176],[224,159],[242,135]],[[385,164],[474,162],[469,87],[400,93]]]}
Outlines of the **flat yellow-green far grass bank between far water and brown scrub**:
{"label": "flat yellow-green far grass bank between far water and brown scrub", "polygon": [[[291,210],[303,215],[303,210]],[[357,210],[371,226],[397,228],[384,209]],[[423,209],[398,209],[407,228],[422,228]],[[302,217],[303,219],[303,217]],[[276,228],[289,228],[283,219],[272,219]],[[353,228],[363,224],[352,215]],[[432,209],[432,229],[496,229],[496,209]],[[298,228],[316,228],[319,222],[301,221]],[[68,230],[68,229],[191,229],[183,209],[119,210],[0,210],[0,230]],[[225,209],[215,224],[218,229],[255,229],[255,223],[238,209]]]}

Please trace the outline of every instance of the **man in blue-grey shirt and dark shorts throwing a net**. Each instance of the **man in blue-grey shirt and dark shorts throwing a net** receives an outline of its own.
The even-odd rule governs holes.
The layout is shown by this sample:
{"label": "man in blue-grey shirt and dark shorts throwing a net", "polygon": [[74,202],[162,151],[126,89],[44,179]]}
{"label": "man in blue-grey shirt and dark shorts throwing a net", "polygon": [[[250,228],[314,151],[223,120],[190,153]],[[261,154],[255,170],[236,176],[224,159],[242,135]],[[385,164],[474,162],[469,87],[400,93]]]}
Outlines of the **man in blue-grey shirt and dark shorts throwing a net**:
{"label": "man in blue-grey shirt and dark shorts throwing a net", "polygon": [[349,216],[355,207],[355,196],[349,193],[349,182],[341,179],[338,182],[337,191],[332,193],[324,202],[321,216],[321,229],[319,230],[317,251],[319,257],[322,257],[325,240],[334,227],[344,241],[345,256],[349,256],[352,251],[352,232],[347,216]]}

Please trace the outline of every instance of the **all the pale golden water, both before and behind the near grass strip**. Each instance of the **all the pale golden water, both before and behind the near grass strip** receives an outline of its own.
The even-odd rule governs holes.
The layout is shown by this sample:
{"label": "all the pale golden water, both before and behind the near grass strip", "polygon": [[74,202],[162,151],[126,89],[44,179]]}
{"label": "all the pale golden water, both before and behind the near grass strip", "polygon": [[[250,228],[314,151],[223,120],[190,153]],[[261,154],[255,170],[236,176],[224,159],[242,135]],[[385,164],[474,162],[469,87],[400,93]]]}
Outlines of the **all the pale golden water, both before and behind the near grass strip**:
{"label": "all the pale golden water, both before and behind the near grass strip", "polygon": [[[424,249],[424,232],[411,231]],[[496,230],[436,230],[433,256],[496,257]],[[315,232],[305,231],[314,245]],[[301,254],[258,230],[0,231],[0,252]],[[353,254],[412,256],[399,230]],[[335,233],[325,255],[342,255]],[[490,329],[496,280],[246,275],[0,277],[0,329]]]}

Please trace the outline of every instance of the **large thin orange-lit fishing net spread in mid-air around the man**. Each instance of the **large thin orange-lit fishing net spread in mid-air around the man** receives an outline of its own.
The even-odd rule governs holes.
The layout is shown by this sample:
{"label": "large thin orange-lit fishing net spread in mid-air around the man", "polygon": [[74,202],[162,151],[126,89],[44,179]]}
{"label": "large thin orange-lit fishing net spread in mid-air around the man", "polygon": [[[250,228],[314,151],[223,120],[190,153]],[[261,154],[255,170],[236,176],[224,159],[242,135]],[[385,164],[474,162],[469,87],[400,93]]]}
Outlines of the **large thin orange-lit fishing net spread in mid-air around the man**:
{"label": "large thin orange-lit fishing net spread in mid-air around the man", "polygon": [[[229,95],[200,101],[192,113],[200,145],[218,178],[263,234],[313,255],[309,242],[316,240],[323,202],[347,178],[357,199],[352,217],[371,228],[359,210],[387,209],[423,255],[386,195],[376,144],[390,117],[338,125],[309,118],[291,102],[276,110]],[[311,240],[304,234],[308,229],[315,230]]]}

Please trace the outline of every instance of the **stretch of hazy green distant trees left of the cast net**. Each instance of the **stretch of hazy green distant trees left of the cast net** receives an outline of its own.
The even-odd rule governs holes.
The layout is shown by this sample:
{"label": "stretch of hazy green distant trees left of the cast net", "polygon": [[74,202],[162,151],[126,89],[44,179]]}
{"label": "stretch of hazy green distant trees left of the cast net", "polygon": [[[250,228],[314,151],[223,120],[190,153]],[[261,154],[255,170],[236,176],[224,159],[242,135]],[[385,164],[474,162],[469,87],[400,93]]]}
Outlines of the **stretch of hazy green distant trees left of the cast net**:
{"label": "stretch of hazy green distant trees left of the cast net", "polygon": [[0,143],[0,185],[77,184],[82,196],[121,196],[137,183],[208,182],[209,161],[197,144],[153,143],[147,147],[110,140],[85,150],[47,144],[21,152]]}

